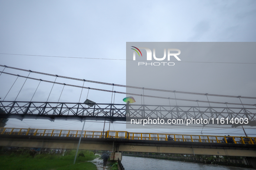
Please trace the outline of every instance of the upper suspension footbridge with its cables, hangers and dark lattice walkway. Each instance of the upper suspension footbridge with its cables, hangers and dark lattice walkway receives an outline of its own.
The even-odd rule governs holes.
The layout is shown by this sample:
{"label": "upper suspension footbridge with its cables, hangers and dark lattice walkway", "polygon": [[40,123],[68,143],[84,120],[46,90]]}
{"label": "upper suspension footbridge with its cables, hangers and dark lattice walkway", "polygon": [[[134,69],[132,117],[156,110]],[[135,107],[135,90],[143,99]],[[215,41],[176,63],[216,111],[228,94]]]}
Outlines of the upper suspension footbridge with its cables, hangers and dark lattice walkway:
{"label": "upper suspension footbridge with its cables, hangers and dark lattice walkway", "polygon": [[[186,120],[189,117],[193,117],[194,119],[209,119],[213,120],[211,124],[227,124],[232,127],[236,126],[256,126],[256,104],[252,104],[252,101],[255,102],[255,97],[245,97],[245,96],[232,96],[232,95],[220,95],[220,94],[204,94],[204,93],[193,93],[193,92],[185,92],[185,91],[170,91],[170,90],[162,90],[162,89],[153,89],[153,88],[142,88],[142,87],[135,87],[135,86],[126,86],[126,85],[118,85],[113,83],[105,83],[105,82],[96,82],[86,79],[77,79],[72,77],[66,76],[59,76],[54,74],[48,74],[44,72],[36,72],[32,70],[26,69],[19,69],[15,67],[0,65],[3,67],[3,71],[0,72],[0,76],[2,74],[16,77],[15,81],[9,88],[9,91],[1,91],[2,95],[5,93],[5,97],[2,101],[0,101],[0,108],[2,112],[0,114],[1,118],[16,118],[19,120],[23,119],[48,119],[48,120],[106,120],[110,122],[114,121],[130,121],[131,118],[150,118],[156,119],[160,118],[163,120],[168,119],[181,119]],[[6,70],[19,70],[21,72],[29,72],[28,76],[22,76],[19,74],[13,74],[10,72],[6,72]],[[30,77],[30,73],[36,75],[45,75],[49,77],[55,77],[55,81],[49,81],[45,79],[38,79]],[[20,89],[17,95],[10,94],[12,91],[13,86],[16,83],[17,79],[24,79],[23,85],[20,85]],[[60,83],[57,82],[57,78],[62,79],[69,79],[75,81],[82,81],[83,86],[68,84],[68,83]],[[0,77],[1,79],[1,77]],[[27,79],[32,79],[35,82],[39,82],[36,87],[36,90],[33,93],[32,98],[30,101],[16,101],[20,92],[23,90],[24,86],[26,86]],[[47,101],[39,102],[33,101],[33,98],[39,88],[41,82],[46,82],[52,84],[51,91],[49,92],[49,96]],[[110,86],[117,86],[123,88],[137,88],[143,89],[143,94],[131,94],[126,93],[123,91],[111,91],[106,89],[100,88],[90,88],[85,87],[84,83],[96,83],[101,85],[110,85]],[[62,92],[65,86],[70,86],[74,88],[81,88],[81,94],[78,103],[71,103],[71,102],[59,102],[62,92],[59,96],[58,102],[49,102],[49,97],[52,93],[52,89],[55,84],[63,85]],[[36,84],[35,84],[36,85]],[[81,103],[81,95],[83,89],[94,90],[94,91],[105,91],[112,93],[111,103],[110,104],[98,104],[98,103]],[[206,96],[207,101],[204,100],[191,100],[186,98],[169,98],[164,97],[161,95],[158,96],[150,96],[144,95],[144,90],[148,91],[160,91],[166,93],[174,93],[174,94],[188,94],[188,95],[201,95]],[[87,93],[87,97],[88,97]],[[114,95],[113,95],[114,94]],[[131,95],[131,96],[139,96],[141,99],[144,98],[155,98],[157,99],[165,99],[168,100],[175,100],[176,104],[177,101],[188,101],[194,102],[194,106],[188,105],[147,105],[147,104],[130,104],[129,108],[127,108],[126,104],[114,104],[115,95],[122,94],[122,95]],[[13,101],[5,101],[8,95],[12,95]],[[239,99],[240,103],[233,103],[233,102],[220,102],[220,101],[209,101],[208,96],[214,96],[219,98],[237,98]],[[3,96],[1,96],[3,97]],[[15,99],[14,99],[15,98]],[[249,103],[243,103],[241,99],[250,101]],[[209,106],[199,106],[199,103],[208,104]],[[218,106],[211,106],[212,104]],[[128,118],[128,119],[127,119]],[[219,121],[219,120],[224,120]],[[227,120],[227,123],[225,123]],[[230,123],[228,120],[233,120],[233,123]],[[242,121],[241,121],[242,120]],[[236,121],[236,123],[234,123]],[[172,125],[172,123],[170,124]]]}

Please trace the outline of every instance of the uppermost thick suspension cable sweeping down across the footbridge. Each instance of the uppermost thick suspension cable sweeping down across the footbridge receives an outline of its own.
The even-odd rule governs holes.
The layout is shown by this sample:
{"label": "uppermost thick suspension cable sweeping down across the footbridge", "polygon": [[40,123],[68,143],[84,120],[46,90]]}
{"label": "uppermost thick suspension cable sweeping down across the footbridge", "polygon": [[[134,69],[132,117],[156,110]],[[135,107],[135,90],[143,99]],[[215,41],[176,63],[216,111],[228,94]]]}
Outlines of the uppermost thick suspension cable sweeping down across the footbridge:
{"label": "uppermost thick suspension cable sweeping down across the footbridge", "polygon": [[[2,67],[7,67],[10,69],[17,69],[25,72],[30,72],[31,70],[27,69],[19,69],[16,67],[10,67],[6,65],[0,65]],[[44,72],[36,72],[32,71],[33,73],[37,74],[43,74],[47,76],[56,76],[54,74],[48,74]],[[86,82],[91,82],[91,83],[97,83],[97,84],[104,84],[104,85],[113,85],[113,83],[106,83],[106,82],[97,82],[97,81],[91,81],[91,80],[85,80],[85,79],[77,79],[77,78],[72,78],[72,77],[66,77],[66,76],[58,76],[60,78],[64,79],[73,79],[73,80],[78,80],[78,81],[86,81]],[[156,89],[156,88],[144,88],[144,87],[136,87],[136,86],[129,86],[129,85],[119,85],[119,84],[114,84],[115,86],[119,87],[126,87],[126,88],[137,88],[137,89],[144,89],[144,90],[151,90],[151,91],[163,91],[163,92],[172,92],[172,93],[182,93],[182,94],[195,94],[195,95],[205,95],[205,93],[194,93],[194,92],[187,92],[187,91],[172,91],[172,90],[163,90],[163,89]],[[208,96],[216,96],[216,97],[227,97],[227,98],[237,98],[238,96],[233,96],[233,95],[221,95],[221,94],[207,94]],[[246,96],[240,96],[240,98],[248,98],[248,99],[256,99],[256,97],[246,97]]]}

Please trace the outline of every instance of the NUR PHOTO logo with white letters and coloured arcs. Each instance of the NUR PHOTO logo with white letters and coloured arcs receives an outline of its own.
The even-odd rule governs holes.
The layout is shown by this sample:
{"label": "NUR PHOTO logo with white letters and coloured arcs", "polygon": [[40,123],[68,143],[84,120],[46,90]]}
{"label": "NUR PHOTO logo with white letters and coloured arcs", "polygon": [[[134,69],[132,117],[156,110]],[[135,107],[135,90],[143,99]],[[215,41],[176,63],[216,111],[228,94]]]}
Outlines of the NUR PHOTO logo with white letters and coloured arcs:
{"label": "NUR PHOTO logo with white letters and coloured arcs", "polygon": [[[139,56],[141,55],[141,57],[142,57],[142,53],[139,49],[145,49],[146,53],[147,53],[147,58],[146,58],[147,61],[152,61],[152,51],[149,48],[147,48],[147,47],[137,48],[137,47],[134,47],[134,46],[131,46],[131,47],[133,47],[131,49],[134,50],[133,51],[133,60],[136,60],[136,52]],[[178,53],[171,53],[171,51],[178,51]],[[168,48],[167,49],[167,60],[170,61],[171,57],[175,57],[178,61],[181,61],[181,59],[179,59],[179,57],[178,57],[179,54],[181,54],[181,50],[176,49],[176,48]],[[157,60],[157,61],[165,60],[165,58],[166,58],[166,48],[164,49],[164,57],[162,57],[162,58],[157,58],[156,57],[156,49],[154,48],[153,49],[153,58],[154,58],[154,60]],[[173,63],[173,62],[154,62],[154,63],[152,63],[152,62],[151,63],[138,62],[138,66],[140,66],[140,65],[144,65],[144,66],[147,66],[147,65],[150,65],[150,66],[164,65],[165,66],[165,64],[168,65],[168,66],[174,66],[175,65],[175,63]]]}

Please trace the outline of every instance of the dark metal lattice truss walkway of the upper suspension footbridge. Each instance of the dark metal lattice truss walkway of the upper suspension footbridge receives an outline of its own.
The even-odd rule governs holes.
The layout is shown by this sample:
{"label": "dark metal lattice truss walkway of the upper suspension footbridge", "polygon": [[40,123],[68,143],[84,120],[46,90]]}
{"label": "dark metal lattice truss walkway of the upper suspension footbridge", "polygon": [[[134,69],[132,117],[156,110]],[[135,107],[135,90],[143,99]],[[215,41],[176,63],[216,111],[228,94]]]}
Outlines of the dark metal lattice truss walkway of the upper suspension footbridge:
{"label": "dark metal lattice truss walkway of the upper suspension footbridge", "polygon": [[[130,121],[134,118],[143,119],[216,119],[231,120],[248,119],[246,125],[256,126],[256,108],[244,107],[195,107],[195,106],[159,106],[126,104],[93,104],[0,101],[4,111],[0,117],[17,119],[62,119],[62,120],[107,120]],[[127,113],[127,115],[126,115]],[[128,118],[126,120],[126,118]],[[211,123],[212,124],[212,123]],[[230,124],[230,123],[228,123]],[[234,124],[233,124],[234,126]]]}

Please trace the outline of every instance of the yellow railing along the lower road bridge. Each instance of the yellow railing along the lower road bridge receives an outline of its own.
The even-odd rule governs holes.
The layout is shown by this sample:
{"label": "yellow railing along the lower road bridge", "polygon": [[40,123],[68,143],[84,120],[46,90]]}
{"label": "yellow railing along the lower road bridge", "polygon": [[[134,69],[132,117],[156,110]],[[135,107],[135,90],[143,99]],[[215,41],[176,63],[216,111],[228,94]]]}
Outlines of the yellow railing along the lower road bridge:
{"label": "yellow railing along the lower road bridge", "polygon": [[[0,135],[22,135],[22,136],[49,136],[78,138],[80,130],[57,130],[57,129],[20,129],[20,128],[0,128]],[[168,141],[168,136],[171,141]],[[163,134],[163,133],[138,133],[126,131],[83,131],[82,138],[111,138],[129,139],[143,141],[168,141],[168,142],[200,142],[200,143],[233,143],[256,145],[256,137],[240,136],[213,136],[213,135],[182,135],[182,134]]]}

